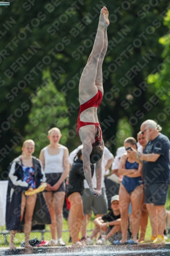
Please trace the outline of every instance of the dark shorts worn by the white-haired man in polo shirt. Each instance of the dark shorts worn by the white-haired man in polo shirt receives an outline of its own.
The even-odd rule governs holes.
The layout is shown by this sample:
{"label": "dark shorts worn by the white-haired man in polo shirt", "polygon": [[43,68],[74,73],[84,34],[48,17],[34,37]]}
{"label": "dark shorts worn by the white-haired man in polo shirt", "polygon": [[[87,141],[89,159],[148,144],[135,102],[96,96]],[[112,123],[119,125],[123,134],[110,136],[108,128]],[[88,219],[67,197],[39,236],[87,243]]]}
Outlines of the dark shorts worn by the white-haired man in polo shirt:
{"label": "dark shorts worn by the white-haired man in polo shirt", "polygon": [[144,185],[144,203],[154,205],[165,205],[168,184],[153,183]]}

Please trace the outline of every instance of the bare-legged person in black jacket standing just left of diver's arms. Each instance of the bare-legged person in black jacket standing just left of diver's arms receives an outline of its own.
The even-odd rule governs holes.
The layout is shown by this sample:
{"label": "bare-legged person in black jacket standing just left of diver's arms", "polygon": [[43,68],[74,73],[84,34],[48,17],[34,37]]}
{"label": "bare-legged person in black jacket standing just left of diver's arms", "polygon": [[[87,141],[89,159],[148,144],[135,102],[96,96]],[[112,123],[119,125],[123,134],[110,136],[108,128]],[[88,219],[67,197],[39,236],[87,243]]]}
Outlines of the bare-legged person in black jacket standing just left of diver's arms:
{"label": "bare-legged person in black jacket standing just left of diver's arms", "polygon": [[[81,245],[78,242],[80,227],[84,218],[83,202],[81,195],[84,190],[84,170],[82,151],[77,153],[78,159],[72,164],[69,173],[69,182],[67,187],[67,198],[70,202],[70,235],[73,246]],[[91,165],[91,175],[94,173],[94,165]]]}

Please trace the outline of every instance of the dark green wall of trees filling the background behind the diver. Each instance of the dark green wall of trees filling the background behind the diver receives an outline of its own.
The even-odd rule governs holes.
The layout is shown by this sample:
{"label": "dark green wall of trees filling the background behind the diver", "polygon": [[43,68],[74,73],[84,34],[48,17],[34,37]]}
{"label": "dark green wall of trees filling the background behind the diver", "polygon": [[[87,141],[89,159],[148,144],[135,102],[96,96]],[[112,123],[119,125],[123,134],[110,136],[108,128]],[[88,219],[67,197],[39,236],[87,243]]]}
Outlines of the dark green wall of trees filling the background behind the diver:
{"label": "dark green wall of trees filling the background behind the diver", "polygon": [[[168,18],[163,24],[168,1],[11,0],[10,6],[0,8],[0,171],[5,171],[18,155],[21,142],[28,135],[38,139],[38,132],[46,133],[47,127],[58,125],[63,130],[63,142],[69,150],[80,143],[76,135],[79,79],[104,5],[109,10],[110,26],[103,64],[105,95],[99,119],[106,145],[115,152],[120,120],[125,120],[127,129],[131,126],[133,136],[148,118],[166,127],[168,116],[163,119],[160,111],[168,104],[168,100],[164,101],[167,94],[156,103],[155,83],[148,84],[147,80],[151,73],[161,71],[160,63],[168,56],[169,49],[161,57],[166,43],[159,42],[168,32]],[[168,35],[166,39],[169,41]],[[169,72],[162,72],[168,80]],[[49,79],[56,92],[46,91],[41,100]],[[161,86],[157,82],[156,90]],[[56,101],[53,93],[59,95]],[[40,109],[46,102],[53,105],[52,112],[41,118]],[[32,118],[37,118],[36,127]],[[164,130],[163,133],[167,134]],[[40,147],[46,144],[44,140]]]}

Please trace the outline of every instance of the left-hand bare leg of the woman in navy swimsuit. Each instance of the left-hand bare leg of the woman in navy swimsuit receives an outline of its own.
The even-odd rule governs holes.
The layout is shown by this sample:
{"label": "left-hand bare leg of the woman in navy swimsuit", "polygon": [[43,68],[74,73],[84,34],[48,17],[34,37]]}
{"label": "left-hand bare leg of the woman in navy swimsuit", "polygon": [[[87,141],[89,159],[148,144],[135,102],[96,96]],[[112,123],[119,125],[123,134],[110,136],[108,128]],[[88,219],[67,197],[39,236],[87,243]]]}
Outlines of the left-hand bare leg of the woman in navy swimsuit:
{"label": "left-hand bare leg of the woman in navy swimsuit", "polygon": [[130,195],[126,188],[120,184],[119,188],[119,207],[121,216],[121,228],[122,228],[122,240],[120,243],[125,243],[127,241],[128,234],[128,212],[130,204]]}

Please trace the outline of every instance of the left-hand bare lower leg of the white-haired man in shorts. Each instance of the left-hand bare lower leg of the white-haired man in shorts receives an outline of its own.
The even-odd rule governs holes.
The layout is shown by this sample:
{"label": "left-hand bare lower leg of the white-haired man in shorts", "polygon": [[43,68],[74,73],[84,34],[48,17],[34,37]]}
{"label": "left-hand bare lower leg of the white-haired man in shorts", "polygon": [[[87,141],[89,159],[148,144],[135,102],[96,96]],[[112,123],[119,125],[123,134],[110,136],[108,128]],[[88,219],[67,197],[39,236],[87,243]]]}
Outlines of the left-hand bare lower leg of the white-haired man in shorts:
{"label": "left-hand bare lower leg of the white-haired man in shorts", "polygon": [[147,204],[147,209],[150,216],[152,236],[156,238],[158,236],[158,213],[154,204]]}

